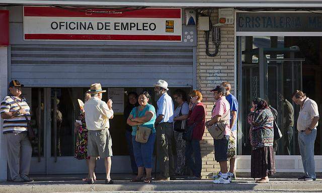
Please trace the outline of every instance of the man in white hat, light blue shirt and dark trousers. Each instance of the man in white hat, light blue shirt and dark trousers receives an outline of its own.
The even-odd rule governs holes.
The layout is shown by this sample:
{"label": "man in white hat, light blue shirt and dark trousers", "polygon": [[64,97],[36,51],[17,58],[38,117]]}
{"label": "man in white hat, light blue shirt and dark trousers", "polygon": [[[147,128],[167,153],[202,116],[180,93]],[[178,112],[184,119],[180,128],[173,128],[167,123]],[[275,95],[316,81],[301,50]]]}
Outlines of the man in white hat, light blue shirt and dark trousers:
{"label": "man in white hat, light blue shirt and dark trousers", "polygon": [[167,93],[169,90],[168,82],[158,80],[154,84],[155,95],[159,97],[157,100],[156,112],[156,154],[157,163],[160,168],[160,175],[155,180],[174,179],[174,160],[172,153],[171,139],[173,137],[173,118],[174,104],[171,96]]}

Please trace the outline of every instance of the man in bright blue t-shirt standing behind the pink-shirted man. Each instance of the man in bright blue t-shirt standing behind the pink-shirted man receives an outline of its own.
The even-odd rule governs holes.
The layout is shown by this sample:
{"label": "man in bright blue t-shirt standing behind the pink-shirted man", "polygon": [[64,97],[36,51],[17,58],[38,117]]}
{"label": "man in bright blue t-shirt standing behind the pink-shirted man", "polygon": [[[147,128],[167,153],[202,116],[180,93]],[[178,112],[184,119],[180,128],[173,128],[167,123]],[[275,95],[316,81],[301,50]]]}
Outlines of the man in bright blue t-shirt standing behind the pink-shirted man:
{"label": "man in bright blue t-shirt standing behind the pink-shirted man", "polygon": [[[235,140],[235,145],[237,144],[237,117],[238,117],[238,102],[234,95],[230,93],[231,84],[229,82],[222,82],[221,84],[226,88],[226,100],[229,102],[230,105],[230,128],[231,128],[231,136]],[[235,178],[233,174],[234,166],[235,166],[235,159],[236,156],[230,158],[229,163],[229,173],[228,175],[231,179]]]}

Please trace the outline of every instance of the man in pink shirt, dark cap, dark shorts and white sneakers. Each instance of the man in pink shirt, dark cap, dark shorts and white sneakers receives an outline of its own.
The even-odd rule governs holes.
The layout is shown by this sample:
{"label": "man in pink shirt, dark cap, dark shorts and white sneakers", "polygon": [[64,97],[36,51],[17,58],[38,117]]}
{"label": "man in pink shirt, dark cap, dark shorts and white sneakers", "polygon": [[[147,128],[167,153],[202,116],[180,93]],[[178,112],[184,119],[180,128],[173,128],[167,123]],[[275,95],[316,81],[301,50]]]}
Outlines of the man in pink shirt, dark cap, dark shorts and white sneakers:
{"label": "man in pink shirt, dark cap, dark shorts and white sneakers", "polygon": [[214,99],[217,101],[216,105],[212,109],[211,120],[206,122],[206,127],[209,127],[215,123],[225,124],[225,130],[222,139],[214,139],[215,146],[215,160],[220,164],[221,175],[217,179],[214,179],[214,183],[230,183],[227,170],[227,152],[228,142],[230,137],[230,105],[226,100],[226,88],[223,86],[216,86],[210,90],[213,92]]}

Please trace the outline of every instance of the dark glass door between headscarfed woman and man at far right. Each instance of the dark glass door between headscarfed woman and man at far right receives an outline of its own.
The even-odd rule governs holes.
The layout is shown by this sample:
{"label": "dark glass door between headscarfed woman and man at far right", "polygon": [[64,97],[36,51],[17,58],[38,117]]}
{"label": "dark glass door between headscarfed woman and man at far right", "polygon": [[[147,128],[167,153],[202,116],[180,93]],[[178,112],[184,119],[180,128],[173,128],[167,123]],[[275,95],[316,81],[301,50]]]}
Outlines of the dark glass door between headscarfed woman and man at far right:
{"label": "dark glass door between headscarfed woman and man at far right", "polygon": [[276,155],[297,155],[297,131],[294,118],[298,108],[291,99],[295,89],[302,89],[303,59],[267,59],[268,79],[266,100],[277,113],[276,123],[282,132],[282,139],[275,144]]}

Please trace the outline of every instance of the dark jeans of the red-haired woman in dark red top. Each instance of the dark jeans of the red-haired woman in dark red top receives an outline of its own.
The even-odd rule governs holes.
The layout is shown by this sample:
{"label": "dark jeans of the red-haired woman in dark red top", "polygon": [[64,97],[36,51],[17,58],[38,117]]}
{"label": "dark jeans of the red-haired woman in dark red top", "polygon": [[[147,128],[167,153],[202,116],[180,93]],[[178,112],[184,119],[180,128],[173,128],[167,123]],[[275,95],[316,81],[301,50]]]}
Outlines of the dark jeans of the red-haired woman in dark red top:
{"label": "dark jeans of the red-haired woman in dark red top", "polygon": [[[193,175],[196,177],[201,177],[201,150],[200,150],[200,141],[199,140],[191,140],[187,141],[186,144],[186,161],[188,163],[189,168],[192,170]],[[192,155],[195,158],[195,161],[192,158]]]}

